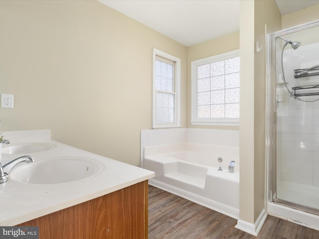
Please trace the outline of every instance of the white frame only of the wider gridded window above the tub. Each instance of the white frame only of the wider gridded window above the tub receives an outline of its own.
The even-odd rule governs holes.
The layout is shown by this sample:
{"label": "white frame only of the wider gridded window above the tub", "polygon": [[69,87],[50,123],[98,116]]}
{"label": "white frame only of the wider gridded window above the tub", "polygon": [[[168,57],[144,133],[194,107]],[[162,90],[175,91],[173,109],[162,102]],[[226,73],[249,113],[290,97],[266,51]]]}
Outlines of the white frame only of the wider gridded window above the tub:
{"label": "white frame only of the wider gridded window above the tub", "polygon": [[[239,118],[206,118],[199,119],[197,115],[197,67],[230,58],[240,57],[239,49],[191,62],[191,124],[194,125],[225,125],[239,126]],[[239,88],[240,89],[240,88]],[[225,90],[225,89],[224,89]],[[240,94],[240,93],[239,93]],[[240,103],[239,103],[240,104]]]}

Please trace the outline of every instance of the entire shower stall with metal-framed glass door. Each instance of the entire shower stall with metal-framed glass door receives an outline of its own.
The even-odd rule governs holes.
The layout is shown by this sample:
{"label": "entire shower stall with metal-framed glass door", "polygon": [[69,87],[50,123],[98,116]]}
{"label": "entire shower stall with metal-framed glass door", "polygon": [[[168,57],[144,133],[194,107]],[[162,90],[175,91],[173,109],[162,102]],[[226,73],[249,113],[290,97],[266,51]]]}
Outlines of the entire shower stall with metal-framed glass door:
{"label": "entire shower stall with metal-framed glass door", "polygon": [[268,211],[319,230],[319,21],[266,35]]}

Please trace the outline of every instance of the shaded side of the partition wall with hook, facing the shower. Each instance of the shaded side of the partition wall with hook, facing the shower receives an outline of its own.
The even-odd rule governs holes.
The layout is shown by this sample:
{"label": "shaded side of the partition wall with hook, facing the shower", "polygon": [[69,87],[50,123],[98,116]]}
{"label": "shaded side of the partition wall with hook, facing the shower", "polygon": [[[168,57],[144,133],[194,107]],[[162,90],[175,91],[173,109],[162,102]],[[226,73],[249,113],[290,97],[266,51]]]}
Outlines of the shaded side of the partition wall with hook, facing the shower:
{"label": "shaded side of the partition wall with hook, facing the shower", "polygon": [[272,31],[281,29],[281,13],[275,0],[255,1],[255,44],[258,41],[264,50],[255,53],[255,205],[254,218],[257,220],[265,207],[265,106],[266,106],[266,39],[265,24]]}

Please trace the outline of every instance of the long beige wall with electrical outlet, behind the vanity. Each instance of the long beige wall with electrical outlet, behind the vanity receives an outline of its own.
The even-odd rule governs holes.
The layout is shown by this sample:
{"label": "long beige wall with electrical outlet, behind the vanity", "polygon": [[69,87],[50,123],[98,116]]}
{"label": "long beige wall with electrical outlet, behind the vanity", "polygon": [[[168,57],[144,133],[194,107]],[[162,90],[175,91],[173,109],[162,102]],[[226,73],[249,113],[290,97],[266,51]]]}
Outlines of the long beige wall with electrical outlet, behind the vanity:
{"label": "long beige wall with electrical outlet, behind the vanity", "polygon": [[152,127],[153,47],[181,59],[187,125],[187,48],[98,1],[0,1],[0,131],[51,129],[52,138],[140,165]]}

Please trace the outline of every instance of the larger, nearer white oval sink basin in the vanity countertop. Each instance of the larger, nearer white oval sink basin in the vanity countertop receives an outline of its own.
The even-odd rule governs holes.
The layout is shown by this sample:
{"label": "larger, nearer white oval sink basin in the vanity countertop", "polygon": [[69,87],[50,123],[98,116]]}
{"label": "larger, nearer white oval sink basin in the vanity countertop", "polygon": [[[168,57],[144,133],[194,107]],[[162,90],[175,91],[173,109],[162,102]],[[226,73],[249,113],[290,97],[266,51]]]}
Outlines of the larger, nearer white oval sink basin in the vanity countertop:
{"label": "larger, nearer white oval sink basin in the vanity countertop", "polygon": [[99,161],[83,157],[53,157],[23,164],[9,174],[13,179],[30,184],[57,184],[81,180],[102,172]]}

